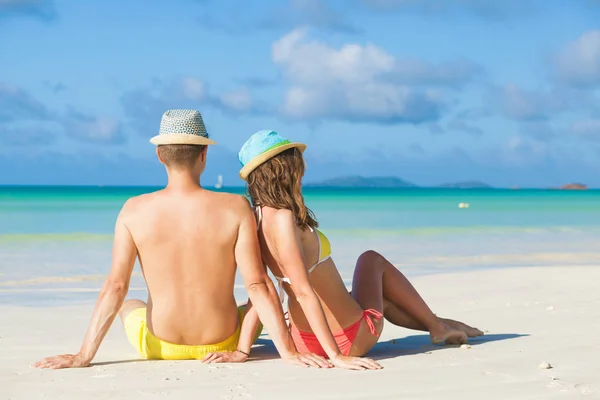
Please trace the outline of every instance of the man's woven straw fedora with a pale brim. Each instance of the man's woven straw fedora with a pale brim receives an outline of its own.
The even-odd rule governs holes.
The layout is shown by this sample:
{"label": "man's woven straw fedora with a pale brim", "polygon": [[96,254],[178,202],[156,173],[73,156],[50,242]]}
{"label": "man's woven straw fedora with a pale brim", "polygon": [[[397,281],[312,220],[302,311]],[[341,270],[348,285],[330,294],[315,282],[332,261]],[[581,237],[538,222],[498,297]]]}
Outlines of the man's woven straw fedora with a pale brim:
{"label": "man's woven straw fedora with a pale brim", "polygon": [[157,136],[150,139],[154,145],[161,144],[217,144],[208,138],[202,115],[196,110],[169,110],[160,120]]}

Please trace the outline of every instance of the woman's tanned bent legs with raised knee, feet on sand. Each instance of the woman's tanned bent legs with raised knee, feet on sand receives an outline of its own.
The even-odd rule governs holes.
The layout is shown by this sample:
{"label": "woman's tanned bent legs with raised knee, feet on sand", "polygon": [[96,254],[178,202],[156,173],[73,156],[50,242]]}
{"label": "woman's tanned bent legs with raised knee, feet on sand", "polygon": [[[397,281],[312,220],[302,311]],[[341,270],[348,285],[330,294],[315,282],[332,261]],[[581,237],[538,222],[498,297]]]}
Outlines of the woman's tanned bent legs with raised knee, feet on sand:
{"label": "woman's tanned bent legs with raised knee, feet on sand", "polygon": [[432,343],[457,344],[467,340],[466,333],[438,318],[408,279],[375,251],[367,251],[358,258],[352,296],[365,309],[383,311],[393,324],[428,331]]}

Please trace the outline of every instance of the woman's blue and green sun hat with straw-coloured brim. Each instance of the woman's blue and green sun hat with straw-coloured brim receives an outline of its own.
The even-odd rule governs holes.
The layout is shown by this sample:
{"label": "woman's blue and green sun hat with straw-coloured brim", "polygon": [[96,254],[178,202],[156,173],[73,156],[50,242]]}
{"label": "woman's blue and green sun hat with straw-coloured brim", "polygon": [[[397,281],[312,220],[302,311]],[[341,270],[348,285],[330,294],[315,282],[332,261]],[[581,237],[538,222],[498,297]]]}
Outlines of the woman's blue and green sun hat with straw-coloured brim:
{"label": "woman's blue and green sun hat with straw-coloured brim", "polygon": [[303,143],[290,142],[275,131],[259,131],[244,143],[238,159],[242,164],[240,178],[248,179],[248,175],[254,171],[260,164],[270,160],[277,154],[291,148],[298,148],[304,152],[306,145]]}

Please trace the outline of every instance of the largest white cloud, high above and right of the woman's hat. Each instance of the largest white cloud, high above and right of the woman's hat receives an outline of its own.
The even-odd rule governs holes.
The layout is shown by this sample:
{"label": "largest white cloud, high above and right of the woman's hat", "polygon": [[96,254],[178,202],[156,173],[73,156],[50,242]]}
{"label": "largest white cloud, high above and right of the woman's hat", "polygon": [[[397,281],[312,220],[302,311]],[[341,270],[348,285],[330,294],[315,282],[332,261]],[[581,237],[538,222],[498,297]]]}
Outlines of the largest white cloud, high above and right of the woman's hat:
{"label": "largest white cloud, high above and right of the woman's hat", "polygon": [[334,48],[290,32],[272,47],[273,61],[290,82],[283,113],[291,118],[334,118],[420,123],[439,118],[440,87],[466,83],[479,72],[467,61],[431,65],[401,61],[372,44]]}

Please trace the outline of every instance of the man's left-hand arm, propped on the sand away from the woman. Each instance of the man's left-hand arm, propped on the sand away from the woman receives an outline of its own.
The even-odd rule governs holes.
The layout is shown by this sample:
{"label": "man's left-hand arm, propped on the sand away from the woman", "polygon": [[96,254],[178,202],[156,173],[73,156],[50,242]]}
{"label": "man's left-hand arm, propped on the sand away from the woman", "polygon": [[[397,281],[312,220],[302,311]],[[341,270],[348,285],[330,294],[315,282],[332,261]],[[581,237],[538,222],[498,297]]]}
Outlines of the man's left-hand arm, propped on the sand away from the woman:
{"label": "man's left-hand arm, propped on the sand away from the woman", "polygon": [[87,367],[92,362],[102,339],[104,339],[125,300],[137,256],[137,248],[129,229],[123,221],[126,207],[127,203],[123,206],[119,217],[117,217],[112,266],[96,301],[96,307],[79,353],[49,357],[38,361],[33,365],[34,367],[53,369]]}

